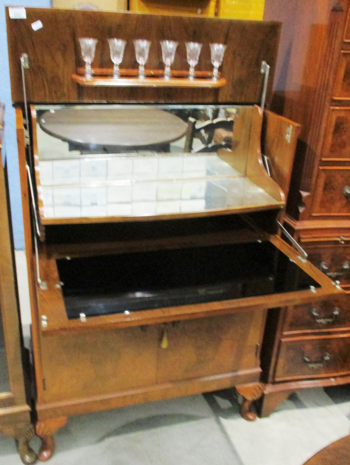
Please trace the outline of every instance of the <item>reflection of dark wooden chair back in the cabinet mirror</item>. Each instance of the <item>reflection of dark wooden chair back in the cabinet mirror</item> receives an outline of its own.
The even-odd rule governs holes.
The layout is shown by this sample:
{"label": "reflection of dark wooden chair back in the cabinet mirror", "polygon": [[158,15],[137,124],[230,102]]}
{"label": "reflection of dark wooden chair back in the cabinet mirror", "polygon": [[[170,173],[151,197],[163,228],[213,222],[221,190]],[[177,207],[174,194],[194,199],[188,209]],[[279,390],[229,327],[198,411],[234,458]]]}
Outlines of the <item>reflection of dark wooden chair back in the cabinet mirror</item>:
{"label": "reflection of dark wooden chair back in the cabinet mirror", "polygon": [[[188,127],[185,140],[185,152],[215,152],[219,148],[230,148],[232,140],[223,139],[218,142],[213,140],[214,133],[218,129],[233,133],[233,119],[232,118],[216,118],[216,120],[197,121],[194,118],[188,118]],[[199,139],[202,146],[193,148],[193,140]]]}

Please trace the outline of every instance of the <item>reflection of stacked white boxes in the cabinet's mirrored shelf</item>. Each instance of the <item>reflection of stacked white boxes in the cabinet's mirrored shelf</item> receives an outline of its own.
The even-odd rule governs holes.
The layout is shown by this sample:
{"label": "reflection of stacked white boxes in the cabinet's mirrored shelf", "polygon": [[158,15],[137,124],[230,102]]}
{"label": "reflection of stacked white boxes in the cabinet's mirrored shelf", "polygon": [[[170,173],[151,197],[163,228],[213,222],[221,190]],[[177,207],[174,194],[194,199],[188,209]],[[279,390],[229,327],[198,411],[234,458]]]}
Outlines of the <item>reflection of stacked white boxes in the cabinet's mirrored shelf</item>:
{"label": "reflection of stacked white boxes in the cabinet's mirrored shelf", "polygon": [[202,210],[207,181],[198,178],[206,177],[211,157],[121,156],[40,161],[44,215],[71,218]]}

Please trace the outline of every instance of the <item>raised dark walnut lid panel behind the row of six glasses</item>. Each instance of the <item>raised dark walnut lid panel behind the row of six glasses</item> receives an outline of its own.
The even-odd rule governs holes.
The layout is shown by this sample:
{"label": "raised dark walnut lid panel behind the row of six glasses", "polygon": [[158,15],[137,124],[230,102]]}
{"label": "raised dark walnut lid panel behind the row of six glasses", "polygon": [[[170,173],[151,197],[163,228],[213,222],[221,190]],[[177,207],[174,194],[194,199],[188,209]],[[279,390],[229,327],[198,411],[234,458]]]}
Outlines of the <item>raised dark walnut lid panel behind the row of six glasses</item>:
{"label": "raised dark walnut lid panel behind the row of six glasses", "polygon": [[[220,18],[161,16],[141,13],[106,13],[77,10],[26,8],[26,20],[10,20],[7,33],[13,102],[22,102],[20,56],[26,52],[30,68],[26,70],[27,100],[34,102],[78,101],[154,101],[154,102],[254,102],[261,99],[263,75],[261,62],[271,66],[273,77],[280,24],[263,21],[237,21]],[[43,27],[34,31],[31,24],[41,20]],[[111,68],[108,37],[128,41],[122,67],[137,68],[132,40],[151,40],[147,67],[163,69],[159,40],[179,42],[172,69],[188,69],[184,42],[202,42],[196,69],[210,71],[210,42],[227,44],[222,63],[222,77],[227,85],[220,90],[168,88],[79,88],[71,75],[83,66],[79,37],[94,37],[94,67]],[[268,99],[272,88],[269,81]]]}

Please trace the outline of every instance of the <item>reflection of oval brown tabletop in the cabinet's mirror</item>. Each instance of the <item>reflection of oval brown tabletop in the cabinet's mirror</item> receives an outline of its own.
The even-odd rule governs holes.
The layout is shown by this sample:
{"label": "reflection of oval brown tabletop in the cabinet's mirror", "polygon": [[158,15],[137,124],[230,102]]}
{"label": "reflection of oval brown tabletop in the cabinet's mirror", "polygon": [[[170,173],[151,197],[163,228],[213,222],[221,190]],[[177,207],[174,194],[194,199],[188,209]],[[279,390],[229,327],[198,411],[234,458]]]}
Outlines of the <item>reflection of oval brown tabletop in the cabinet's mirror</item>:
{"label": "reflection of oval brown tabletop in the cabinet's mirror", "polygon": [[178,116],[152,107],[62,108],[43,113],[38,122],[43,131],[78,150],[164,147],[187,129]]}

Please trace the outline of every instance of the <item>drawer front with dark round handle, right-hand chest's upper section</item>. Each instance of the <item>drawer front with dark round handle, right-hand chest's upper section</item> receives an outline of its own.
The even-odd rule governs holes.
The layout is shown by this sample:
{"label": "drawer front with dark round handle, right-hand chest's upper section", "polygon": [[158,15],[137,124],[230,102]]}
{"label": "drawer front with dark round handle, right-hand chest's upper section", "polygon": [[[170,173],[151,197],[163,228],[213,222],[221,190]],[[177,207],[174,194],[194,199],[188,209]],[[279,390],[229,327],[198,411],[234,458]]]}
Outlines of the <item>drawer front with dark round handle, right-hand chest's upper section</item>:
{"label": "drawer front with dark round handle, right-hand chest's upper section", "polygon": [[320,167],[312,215],[350,215],[350,167]]}

